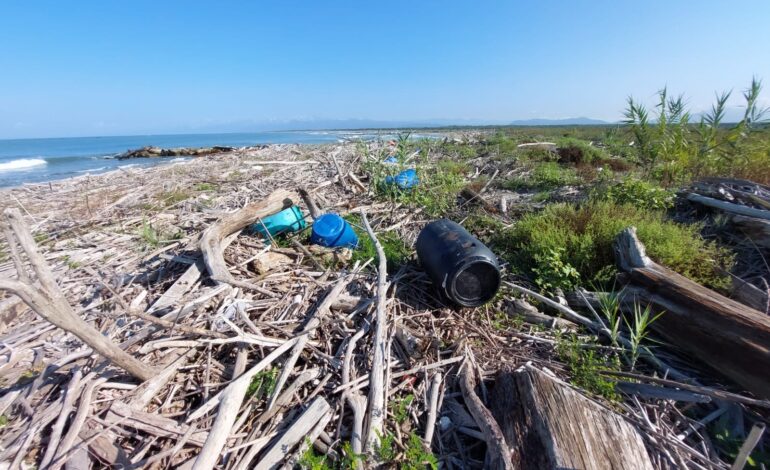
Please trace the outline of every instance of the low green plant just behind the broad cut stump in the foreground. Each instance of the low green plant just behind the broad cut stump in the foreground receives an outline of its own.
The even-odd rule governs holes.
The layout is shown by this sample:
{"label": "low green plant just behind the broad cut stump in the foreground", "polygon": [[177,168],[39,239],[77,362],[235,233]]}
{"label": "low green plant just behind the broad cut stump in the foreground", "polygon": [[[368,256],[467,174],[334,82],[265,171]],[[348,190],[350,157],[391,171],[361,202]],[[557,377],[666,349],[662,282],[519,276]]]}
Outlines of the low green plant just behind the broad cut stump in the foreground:
{"label": "low green plant just behind the broad cut stump in the foreground", "polygon": [[615,383],[601,374],[601,371],[619,371],[620,359],[617,354],[601,354],[596,349],[582,347],[576,338],[561,339],[556,346],[559,359],[570,371],[570,382],[594,395],[617,402],[620,395]]}

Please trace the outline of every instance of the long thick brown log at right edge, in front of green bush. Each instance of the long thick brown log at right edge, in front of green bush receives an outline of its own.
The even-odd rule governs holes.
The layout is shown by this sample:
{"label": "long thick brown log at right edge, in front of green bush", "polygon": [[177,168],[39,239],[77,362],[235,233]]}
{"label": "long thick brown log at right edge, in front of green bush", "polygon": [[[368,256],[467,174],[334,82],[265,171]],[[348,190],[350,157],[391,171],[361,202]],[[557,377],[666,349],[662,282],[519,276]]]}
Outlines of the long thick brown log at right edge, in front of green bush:
{"label": "long thick brown log at right edge, in front of green bush", "polygon": [[664,340],[763,398],[770,398],[770,316],[728,299],[653,262],[636,229],[615,241],[627,272],[623,303],[663,312],[652,329]]}

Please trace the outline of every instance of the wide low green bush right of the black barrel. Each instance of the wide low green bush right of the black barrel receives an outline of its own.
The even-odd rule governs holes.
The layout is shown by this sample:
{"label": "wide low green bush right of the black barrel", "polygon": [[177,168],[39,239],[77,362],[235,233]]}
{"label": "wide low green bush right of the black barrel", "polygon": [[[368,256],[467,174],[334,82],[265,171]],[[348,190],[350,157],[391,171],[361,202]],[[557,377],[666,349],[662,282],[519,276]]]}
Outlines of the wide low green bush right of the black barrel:
{"label": "wide low green bush right of the black barrel", "polygon": [[[524,216],[511,230],[492,237],[498,254],[538,284],[570,289],[578,284],[611,284],[615,274],[613,242],[624,228],[635,226],[647,253],[657,262],[715,289],[729,279],[715,266],[729,269],[733,255],[703,240],[700,225],[682,225],[662,211],[592,201],[583,206],[552,204]],[[559,263],[554,263],[554,253]],[[574,268],[579,276],[571,274]],[[566,274],[565,274],[566,273]]]}

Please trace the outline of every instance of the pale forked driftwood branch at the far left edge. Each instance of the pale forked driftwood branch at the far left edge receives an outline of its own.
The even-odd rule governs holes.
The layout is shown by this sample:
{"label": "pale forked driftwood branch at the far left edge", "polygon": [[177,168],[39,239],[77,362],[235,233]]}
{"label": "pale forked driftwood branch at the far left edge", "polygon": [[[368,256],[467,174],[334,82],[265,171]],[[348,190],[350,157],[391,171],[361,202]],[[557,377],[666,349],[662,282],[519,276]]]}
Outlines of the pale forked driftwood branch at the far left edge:
{"label": "pale forked driftwood branch at the far left edge", "polygon": [[[0,290],[7,290],[16,294],[35,313],[59,328],[77,336],[94,351],[137,379],[144,381],[152,378],[156,373],[152,367],[120,349],[118,345],[111,342],[75,313],[56,283],[56,279],[54,279],[45,258],[38,251],[32,234],[24,224],[21,212],[18,209],[9,208],[5,210],[4,214],[8,226],[14,235],[8,239],[8,245],[15,248],[15,243],[18,242],[21,250],[29,259],[30,267],[37,275],[39,285],[31,283],[25,271],[26,267],[18,256],[14,256],[14,264],[16,265],[16,271],[19,273],[19,280],[0,279]],[[6,234],[10,236],[10,232],[6,232]]]}

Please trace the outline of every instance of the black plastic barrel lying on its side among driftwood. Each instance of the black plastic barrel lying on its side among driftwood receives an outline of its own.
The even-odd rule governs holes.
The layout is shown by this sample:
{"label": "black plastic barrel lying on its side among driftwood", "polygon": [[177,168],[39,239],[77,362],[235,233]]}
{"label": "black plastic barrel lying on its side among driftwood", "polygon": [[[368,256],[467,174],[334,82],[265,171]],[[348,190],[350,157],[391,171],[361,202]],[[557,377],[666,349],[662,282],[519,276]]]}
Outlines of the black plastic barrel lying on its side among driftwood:
{"label": "black plastic barrel lying on its side among driftwood", "polygon": [[436,288],[463,307],[488,302],[500,288],[497,257],[458,223],[429,223],[417,236],[416,248]]}

